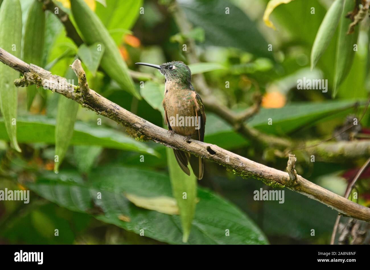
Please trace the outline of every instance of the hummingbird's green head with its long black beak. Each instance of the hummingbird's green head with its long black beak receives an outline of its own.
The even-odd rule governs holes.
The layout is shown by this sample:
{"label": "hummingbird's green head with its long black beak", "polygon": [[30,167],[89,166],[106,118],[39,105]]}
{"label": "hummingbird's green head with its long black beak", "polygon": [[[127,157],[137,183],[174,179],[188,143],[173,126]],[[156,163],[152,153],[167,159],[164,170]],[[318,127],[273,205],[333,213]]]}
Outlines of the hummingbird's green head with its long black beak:
{"label": "hummingbird's green head with its long black beak", "polygon": [[181,61],[172,61],[162,65],[153,65],[148,63],[135,63],[138,65],[147,65],[148,67],[157,68],[161,72],[166,81],[175,81],[177,83],[191,84],[190,68]]}

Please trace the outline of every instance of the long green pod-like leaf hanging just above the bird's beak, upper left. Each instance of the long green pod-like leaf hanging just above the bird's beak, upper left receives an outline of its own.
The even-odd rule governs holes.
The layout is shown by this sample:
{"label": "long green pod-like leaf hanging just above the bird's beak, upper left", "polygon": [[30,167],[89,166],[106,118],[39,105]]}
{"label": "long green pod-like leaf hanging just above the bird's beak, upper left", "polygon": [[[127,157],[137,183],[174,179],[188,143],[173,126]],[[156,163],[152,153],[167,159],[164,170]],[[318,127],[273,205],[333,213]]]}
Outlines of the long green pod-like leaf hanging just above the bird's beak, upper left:
{"label": "long green pod-like leaf hanging just above the bird's beak, upper left", "polygon": [[[126,63],[123,61],[113,38],[104,27],[99,17],[83,0],[71,0],[73,18],[88,45],[101,44],[104,54],[100,61],[102,69],[115,80],[120,87],[141,99],[134,88]],[[122,18],[122,17],[121,17]]]}

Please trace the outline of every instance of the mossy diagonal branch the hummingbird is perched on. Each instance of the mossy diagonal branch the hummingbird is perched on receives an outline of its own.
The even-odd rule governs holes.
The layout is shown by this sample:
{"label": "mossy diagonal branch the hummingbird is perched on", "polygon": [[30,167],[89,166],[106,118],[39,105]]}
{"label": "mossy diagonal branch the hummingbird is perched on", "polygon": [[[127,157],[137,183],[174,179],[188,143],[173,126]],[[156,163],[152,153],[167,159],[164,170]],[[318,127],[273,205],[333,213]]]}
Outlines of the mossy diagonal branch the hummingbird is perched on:
{"label": "mossy diagonal branch the hummingbird is perched on", "polygon": [[[184,136],[173,134],[170,137],[167,130],[156,126],[145,119],[127,111],[119,105],[102,97],[94,90],[88,89],[88,97],[84,98],[80,89],[84,85],[77,87],[69,84],[66,78],[58,75],[52,75],[33,64],[27,64],[14,57],[7,51],[0,48],[0,61],[9,65],[14,70],[23,73],[23,77],[14,81],[17,87],[24,87],[36,84],[40,87],[48,87],[54,92],[73,99],[85,108],[89,108],[100,115],[110,118],[126,127],[126,131],[133,137],[139,137],[143,140],[153,140],[165,146],[192,153],[196,156],[202,156],[205,159],[219,163],[225,166],[229,171],[242,176],[243,178],[253,177],[262,180],[264,183],[273,187],[286,187],[296,192],[302,193],[311,199],[315,199],[325,205],[332,207],[346,216],[370,222],[370,209],[354,203],[342,196],[339,196],[329,190],[326,190],[300,175],[297,175],[296,181],[289,178],[287,172],[282,172],[270,168],[263,164],[251,161],[242,156],[236,155],[221,147],[205,142],[190,139],[190,143],[184,142]],[[76,63],[76,65],[78,62]],[[76,67],[79,82],[84,82],[85,72],[82,67]]]}

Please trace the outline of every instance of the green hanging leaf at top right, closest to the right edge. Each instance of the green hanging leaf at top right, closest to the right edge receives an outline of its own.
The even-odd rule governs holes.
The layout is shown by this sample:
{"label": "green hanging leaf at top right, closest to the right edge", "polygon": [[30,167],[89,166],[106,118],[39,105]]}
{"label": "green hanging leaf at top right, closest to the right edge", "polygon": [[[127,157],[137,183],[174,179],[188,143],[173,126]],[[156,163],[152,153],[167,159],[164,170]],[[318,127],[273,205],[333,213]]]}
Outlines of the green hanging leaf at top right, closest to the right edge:
{"label": "green hanging leaf at top right, closest to the right edge", "polygon": [[335,58],[335,74],[332,97],[337,94],[339,85],[343,82],[344,78],[348,75],[351,69],[354,55],[356,51],[353,50],[353,45],[357,43],[359,37],[359,27],[355,27],[354,33],[347,35],[348,26],[351,23],[346,14],[353,10],[354,1],[346,0],[340,20],[339,37],[337,41],[337,52]]}

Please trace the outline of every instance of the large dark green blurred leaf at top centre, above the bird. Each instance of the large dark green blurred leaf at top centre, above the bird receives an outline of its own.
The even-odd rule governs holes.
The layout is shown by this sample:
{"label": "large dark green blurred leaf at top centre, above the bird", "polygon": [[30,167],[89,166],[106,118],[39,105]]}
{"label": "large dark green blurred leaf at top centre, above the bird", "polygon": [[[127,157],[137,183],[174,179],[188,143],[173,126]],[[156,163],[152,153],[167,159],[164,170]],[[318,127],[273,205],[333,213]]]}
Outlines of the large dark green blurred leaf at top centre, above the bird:
{"label": "large dark green blurred leaf at top centre, above the bird", "polygon": [[[258,56],[272,58],[268,43],[256,24],[238,7],[225,0],[181,1],[186,18],[205,31],[205,44],[235,47]],[[225,8],[229,7],[229,14]]]}

